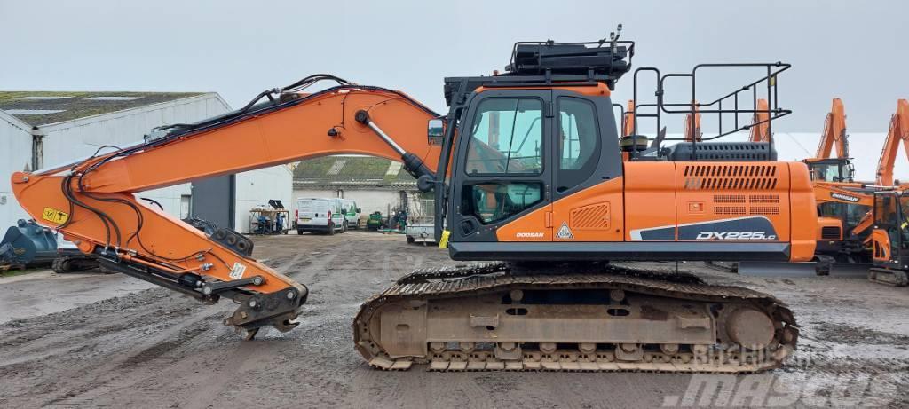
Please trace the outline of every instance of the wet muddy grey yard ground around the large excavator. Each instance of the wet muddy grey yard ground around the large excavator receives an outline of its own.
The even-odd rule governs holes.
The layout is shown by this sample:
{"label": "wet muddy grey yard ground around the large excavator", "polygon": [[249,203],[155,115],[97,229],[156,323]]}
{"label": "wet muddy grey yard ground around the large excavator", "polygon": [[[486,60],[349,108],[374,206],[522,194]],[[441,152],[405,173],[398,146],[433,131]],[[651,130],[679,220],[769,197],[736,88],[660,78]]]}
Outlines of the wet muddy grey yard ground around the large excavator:
{"label": "wet muddy grey yard ground around the large excavator", "polygon": [[[790,304],[800,349],[769,374],[390,373],[355,353],[351,320],[398,276],[449,263],[445,251],[363,232],[254,240],[256,257],[310,289],[295,331],[254,342],[221,324],[233,304],[199,304],[119,274],[0,279],[0,407],[909,405],[909,288],[683,264]],[[694,395],[693,379],[731,389]]]}

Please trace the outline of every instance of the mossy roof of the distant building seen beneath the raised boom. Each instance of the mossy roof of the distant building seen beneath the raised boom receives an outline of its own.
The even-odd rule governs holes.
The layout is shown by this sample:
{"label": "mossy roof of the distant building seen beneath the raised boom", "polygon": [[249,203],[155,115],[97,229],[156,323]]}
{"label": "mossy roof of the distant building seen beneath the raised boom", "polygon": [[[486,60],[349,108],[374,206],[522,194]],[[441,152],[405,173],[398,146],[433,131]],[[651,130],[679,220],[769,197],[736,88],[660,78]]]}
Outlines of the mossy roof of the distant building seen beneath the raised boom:
{"label": "mossy roof of the distant building seen beneath the raised boom", "polygon": [[[344,165],[336,165],[343,161]],[[400,168],[388,175],[392,161],[374,156],[323,156],[300,161],[294,171],[295,182],[310,185],[356,183],[361,185],[415,184],[416,180]]]}

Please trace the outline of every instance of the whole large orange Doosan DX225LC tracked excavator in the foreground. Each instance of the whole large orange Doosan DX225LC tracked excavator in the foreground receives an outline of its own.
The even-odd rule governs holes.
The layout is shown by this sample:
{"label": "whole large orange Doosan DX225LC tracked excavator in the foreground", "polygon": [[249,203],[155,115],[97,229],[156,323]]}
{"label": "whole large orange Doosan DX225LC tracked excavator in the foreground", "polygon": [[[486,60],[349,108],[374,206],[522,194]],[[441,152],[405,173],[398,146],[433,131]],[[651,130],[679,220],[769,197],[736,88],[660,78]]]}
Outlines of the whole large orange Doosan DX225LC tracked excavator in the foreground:
{"label": "whole large orange Doosan DX225LC tracked excavator in the foreground", "polygon": [[[435,191],[435,234],[456,261],[417,270],[363,304],[355,349],[377,368],[753,373],[780,366],[798,327],[785,304],[618,260],[809,260],[816,217],[808,171],[769,143],[622,144],[611,91],[634,43],[517,43],[504,74],[445,78],[447,115],[402,92],[311,75],[195,124],[72,164],[15,173],[15,196],[105,268],[205,303],[247,338],[289,331],[308,290],[253,257],[232,230],[206,234],[135,193],[318,155],[381,156]],[[674,110],[661,75],[655,114]],[[775,95],[789,65],[745,89]],[[334,85],[312,92],[316,83]],[[750,88],[749,88],[750,87]],[[693,90],[694,92],[694,90]],[[732,112],[742,88],[702,104]],[[694,97],[686,97],[686,101]],[[703,100],[703,98],[702,98]],[[689,104],[690,105],[690,104]],[[763,114],[788,114],[774,100]],[[737,106],[736,113],[756,107]],[[634,139],[645,138],[637,132]],[[706,138],[705,138],[706,139]],[[622,160],[620,146],[627,150]]]}

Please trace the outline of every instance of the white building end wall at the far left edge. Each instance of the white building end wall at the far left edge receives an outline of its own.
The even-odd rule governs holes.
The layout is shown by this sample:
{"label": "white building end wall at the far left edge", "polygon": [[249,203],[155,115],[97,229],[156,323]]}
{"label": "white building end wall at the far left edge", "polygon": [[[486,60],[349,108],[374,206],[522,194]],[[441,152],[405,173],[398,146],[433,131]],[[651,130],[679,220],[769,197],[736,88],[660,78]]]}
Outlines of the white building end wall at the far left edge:
{"label": "white building end wall at the far left edge", "polygon": [[25,170],[32,161],[32,134],[28,125],[0,113],[0,238],[6,228],[28,214],[15,201],[9,177]]}

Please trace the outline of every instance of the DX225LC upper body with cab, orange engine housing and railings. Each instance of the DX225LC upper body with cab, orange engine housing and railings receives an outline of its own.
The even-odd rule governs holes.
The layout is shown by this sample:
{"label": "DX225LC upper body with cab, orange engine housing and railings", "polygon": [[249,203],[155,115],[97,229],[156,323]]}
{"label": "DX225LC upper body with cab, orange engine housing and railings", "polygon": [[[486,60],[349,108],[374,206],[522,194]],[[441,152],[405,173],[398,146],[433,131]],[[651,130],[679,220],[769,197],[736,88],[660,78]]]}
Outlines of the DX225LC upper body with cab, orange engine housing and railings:
{"label": "DX225LC upper body with cab, orange engine housing and railings", "polygon": [[[453,259],[783,261],[813,253],[781,245],[800,243],[790,234],[801,231],[788,231],[797,216],[781,212],[790,199],[778,189],[807,188],[807,177],[790,178],[801,169],[779,167],[770,132],[790,113],[775,98],[775,79],[789,65],[706,64],[684,74],[637,68],[620,137],[611,92],[633,55],[632,42],[525,42],[514,45],[504,74],[445,78],[449,126],[435,172],[443,179],[435,219],[445,221],[436,238]],[[742,68],[766,75],[715,99],[697,97],[695,84]],[[651,74],[657,100],[642,102],[639,79]],[[664,99],[673,81],[689,82],[686,102]],[[672,114],[710,115],[718,129],[667,137],[662,117]],[[655,121],[656,131],[646,135],[642,120]],[[766,134],[761,142],[714,141],[755,126]]]}

